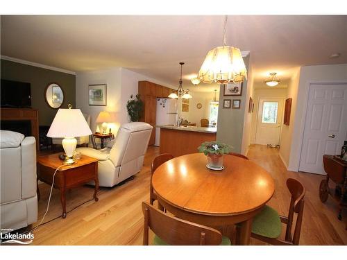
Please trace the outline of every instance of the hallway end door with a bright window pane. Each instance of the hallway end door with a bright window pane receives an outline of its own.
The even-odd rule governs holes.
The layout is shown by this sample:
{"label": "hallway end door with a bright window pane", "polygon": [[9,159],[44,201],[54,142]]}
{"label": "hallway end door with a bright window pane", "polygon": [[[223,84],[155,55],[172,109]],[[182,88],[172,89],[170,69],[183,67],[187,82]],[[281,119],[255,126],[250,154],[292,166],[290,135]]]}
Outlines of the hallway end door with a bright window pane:
{"label": "hallway end door with a bright window pane", "polygon": [[283,98],[260,98],[255,144],[280,144]]}

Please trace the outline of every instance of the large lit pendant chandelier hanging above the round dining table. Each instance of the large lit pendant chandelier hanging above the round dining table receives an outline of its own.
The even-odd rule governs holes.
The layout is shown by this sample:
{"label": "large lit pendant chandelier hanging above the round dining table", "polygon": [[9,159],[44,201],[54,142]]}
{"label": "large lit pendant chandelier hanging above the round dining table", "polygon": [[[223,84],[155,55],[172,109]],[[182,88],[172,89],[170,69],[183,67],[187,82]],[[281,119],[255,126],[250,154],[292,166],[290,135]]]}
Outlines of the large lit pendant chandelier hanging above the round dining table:
{"label": "large lit pendant chandelier hanging above the round dining table", "polygon": [[218,46],[208,52],[198,71],[197,78],[192,83],[242,83],[247,78],[247,70],[241,51],[226,45],[226,26],[228,16],[224,20],[223,46]]}

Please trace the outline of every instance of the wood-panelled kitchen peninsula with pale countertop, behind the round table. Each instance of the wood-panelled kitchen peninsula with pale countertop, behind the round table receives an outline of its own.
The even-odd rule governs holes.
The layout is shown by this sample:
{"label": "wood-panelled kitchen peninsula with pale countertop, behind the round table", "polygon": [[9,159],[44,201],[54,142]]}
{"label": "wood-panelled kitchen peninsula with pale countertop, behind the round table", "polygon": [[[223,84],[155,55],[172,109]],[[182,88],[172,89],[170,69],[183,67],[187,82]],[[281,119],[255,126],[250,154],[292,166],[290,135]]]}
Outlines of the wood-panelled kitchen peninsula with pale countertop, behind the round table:
{"label": "wood-panelled kitchen peninsula with pale countertop, behind the round table", "polygon": [[178,157],[198,153],[204,141],[216,141],[217,128],[196,126],[157,125],[160,128],[160,153]]}

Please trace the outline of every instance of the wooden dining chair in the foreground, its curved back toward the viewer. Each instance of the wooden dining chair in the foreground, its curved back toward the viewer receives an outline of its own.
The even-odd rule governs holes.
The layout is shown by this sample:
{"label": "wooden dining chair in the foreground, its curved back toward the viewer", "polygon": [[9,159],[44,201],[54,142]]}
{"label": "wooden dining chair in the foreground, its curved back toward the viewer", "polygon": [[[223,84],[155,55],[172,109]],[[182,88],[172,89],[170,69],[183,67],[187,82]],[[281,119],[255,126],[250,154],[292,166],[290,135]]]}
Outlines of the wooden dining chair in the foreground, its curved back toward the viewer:
{"label": "wooden dining chair in the foreground, its curved back toward the viewer", "polygon": [[169,216],[148,202],[142,202],[142,211],[144,245],[149,245],[149,229],[155,233],[153,245],[231,245],[217,229]]}

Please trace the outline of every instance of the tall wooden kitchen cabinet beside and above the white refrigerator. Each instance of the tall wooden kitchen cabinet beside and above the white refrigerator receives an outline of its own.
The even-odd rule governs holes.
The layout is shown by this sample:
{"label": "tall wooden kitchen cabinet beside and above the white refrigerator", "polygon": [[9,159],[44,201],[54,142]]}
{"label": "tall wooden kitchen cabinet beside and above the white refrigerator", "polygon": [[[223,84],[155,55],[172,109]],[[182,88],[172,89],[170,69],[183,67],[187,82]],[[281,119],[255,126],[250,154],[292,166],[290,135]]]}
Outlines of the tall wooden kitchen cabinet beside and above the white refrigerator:
{"label": "tall wooden kitchen cabinet beside and above the white refrigerator", "polygon": [[139,96],[144,102],[144,112],[140,121],[149,123],[153,126],[149,145],[155,143],[155,123],[157,113],[157,98],[167,98],[171,93],[169,87],[164,87],[149,81],[139,81]]}

